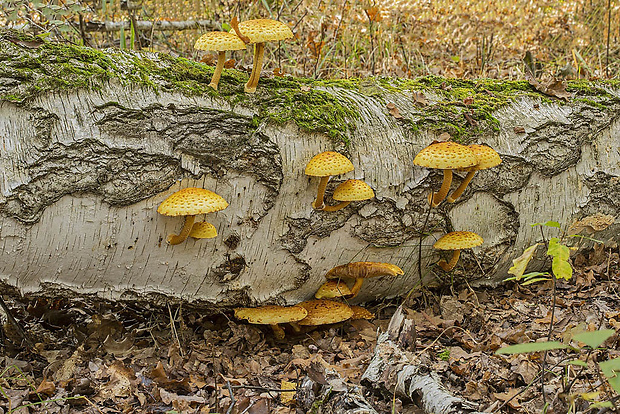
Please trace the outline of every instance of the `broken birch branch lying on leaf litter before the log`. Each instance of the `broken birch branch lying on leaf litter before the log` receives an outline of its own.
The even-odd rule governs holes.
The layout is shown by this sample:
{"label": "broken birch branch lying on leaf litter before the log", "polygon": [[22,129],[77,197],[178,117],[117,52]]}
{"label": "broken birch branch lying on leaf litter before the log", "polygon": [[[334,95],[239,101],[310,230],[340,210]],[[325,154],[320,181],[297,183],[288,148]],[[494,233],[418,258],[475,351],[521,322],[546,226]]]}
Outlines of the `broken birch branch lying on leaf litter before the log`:
{"label": "broken birch branch lying on leaf litter before the log", "polygon": [[374,388],[417,403],[427,413],[481,414],[475,404],[450,394],[439,375],[416,363],[408,348],[414,345],[415,326],[400,306],[386,332],[379,336],[375,354],[362,376],[362,382]]}

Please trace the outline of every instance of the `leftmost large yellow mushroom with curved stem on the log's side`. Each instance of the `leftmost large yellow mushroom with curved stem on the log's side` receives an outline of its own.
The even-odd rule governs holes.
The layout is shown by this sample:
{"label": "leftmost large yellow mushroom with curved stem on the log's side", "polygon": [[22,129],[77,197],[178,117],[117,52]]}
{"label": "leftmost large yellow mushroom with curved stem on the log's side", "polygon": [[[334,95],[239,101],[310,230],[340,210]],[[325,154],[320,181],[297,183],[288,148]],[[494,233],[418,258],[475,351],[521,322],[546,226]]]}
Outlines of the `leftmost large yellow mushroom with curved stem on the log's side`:
{"label": "leftmost large yellow mushroom with curved stem on the log's side", "polygon": [[185,241],[189,236],[197,214],[213,213],[224,210],[228,203],[213,191],[204,188],[184,188],[171,194],[157,207],[157,212],[164,216],[185,216],[185,225],[181,232],[170,234],[166,239],[175,245]]}

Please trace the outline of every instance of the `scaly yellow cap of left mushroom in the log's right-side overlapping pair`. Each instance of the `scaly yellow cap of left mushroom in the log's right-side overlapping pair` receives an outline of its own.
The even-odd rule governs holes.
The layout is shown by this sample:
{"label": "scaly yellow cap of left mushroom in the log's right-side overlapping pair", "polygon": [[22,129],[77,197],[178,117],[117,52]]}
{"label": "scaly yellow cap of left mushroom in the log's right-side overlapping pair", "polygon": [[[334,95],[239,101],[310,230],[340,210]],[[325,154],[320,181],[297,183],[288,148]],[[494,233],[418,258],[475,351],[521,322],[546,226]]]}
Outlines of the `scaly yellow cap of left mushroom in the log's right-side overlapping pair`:
{"label": "scaly yellow cap of left mushroom in the log's right-side overlapping pair", "polygon": [[426,168],[452,170],[467,168],[478,163],[474,152],[456,142],[437,142],[424,148],[415,156],[413,163]]}

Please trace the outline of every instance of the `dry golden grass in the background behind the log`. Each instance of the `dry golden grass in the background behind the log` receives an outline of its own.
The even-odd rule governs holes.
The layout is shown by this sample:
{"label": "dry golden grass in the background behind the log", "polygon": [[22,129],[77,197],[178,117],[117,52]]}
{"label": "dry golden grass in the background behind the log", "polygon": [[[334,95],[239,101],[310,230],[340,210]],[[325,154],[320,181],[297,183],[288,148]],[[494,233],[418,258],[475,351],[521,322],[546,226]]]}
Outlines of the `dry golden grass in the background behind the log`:
{"label": "dry golden grass in the background behind the log", "polygon": [[[102,1],[105,15],[99,8],[91,19],[128,20],[118,1]],[[608,0],[145,0],[139,18],[279,19],[294,28],[295,39],[280,48],[268,46],[267,67],[296,76],[514,79],[522,78],[526,51],[547,73],[563,69],[572,77],[617,77],[619,9],[611,2],[609,64]],[[200,34],[155,33],[149,48],[198,57],[192,45]],[[118,44],[118,35],[90,43]],[[143,36],[148,43],[151,34]],[[251,64],[251,53],[233,57],[243,66]]]}

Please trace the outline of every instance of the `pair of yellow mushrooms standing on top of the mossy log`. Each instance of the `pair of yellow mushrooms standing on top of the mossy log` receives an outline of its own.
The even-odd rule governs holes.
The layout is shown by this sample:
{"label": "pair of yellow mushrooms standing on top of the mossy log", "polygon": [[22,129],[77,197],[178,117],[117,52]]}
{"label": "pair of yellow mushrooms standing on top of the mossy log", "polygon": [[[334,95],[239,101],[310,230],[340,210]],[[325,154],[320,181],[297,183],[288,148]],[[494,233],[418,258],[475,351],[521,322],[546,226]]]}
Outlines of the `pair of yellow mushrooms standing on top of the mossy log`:
{"label": "pair of yellow mushrooms standing on top of the mossy log", "polygon": [[265,43],[290,39],[293,32],[286,24],[272,19],[254,19],[239,23],[234,17],[230,24],[232,32],[206,33],[196,41],[194,48],[218,53],[217,65],[209,84],[217,90],[226,61],[226,51],[241,50],[245,49],[246,45],[254,45],[252,73],[244,87],[245,92],[254,93],[263,67]]}

